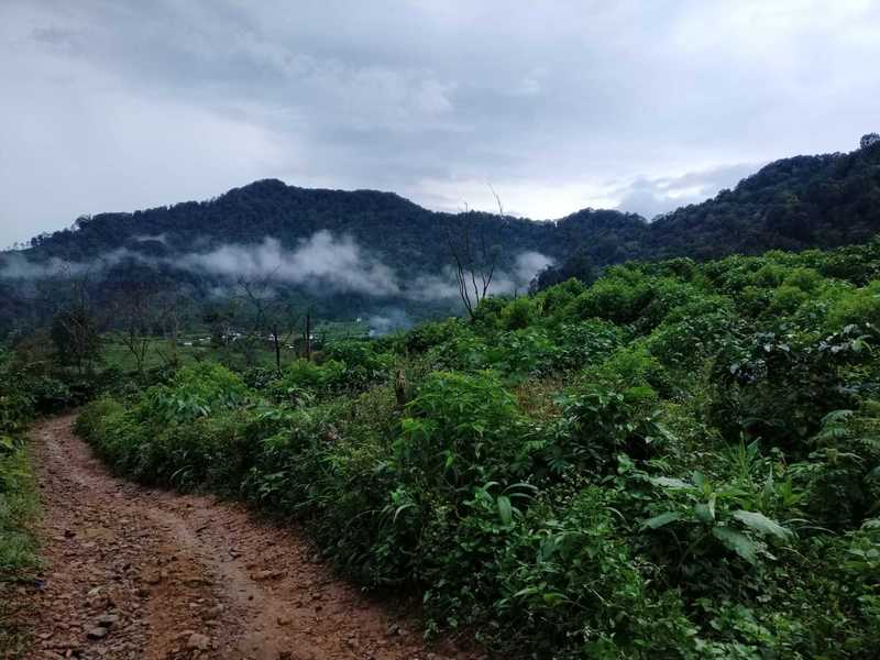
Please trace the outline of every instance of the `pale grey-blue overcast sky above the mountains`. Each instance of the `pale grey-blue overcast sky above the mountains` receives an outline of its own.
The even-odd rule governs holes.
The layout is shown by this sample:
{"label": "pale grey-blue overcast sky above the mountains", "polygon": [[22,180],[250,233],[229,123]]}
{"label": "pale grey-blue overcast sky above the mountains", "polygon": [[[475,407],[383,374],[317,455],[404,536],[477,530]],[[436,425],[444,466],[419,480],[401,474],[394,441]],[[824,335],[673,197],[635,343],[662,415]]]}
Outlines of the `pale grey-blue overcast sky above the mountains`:
{"label": "pale grey-blue overcast sky above the mountains", "polygon": [[0,246],[254,179],[647,217],[880,130],[880,2],[0,0]]}

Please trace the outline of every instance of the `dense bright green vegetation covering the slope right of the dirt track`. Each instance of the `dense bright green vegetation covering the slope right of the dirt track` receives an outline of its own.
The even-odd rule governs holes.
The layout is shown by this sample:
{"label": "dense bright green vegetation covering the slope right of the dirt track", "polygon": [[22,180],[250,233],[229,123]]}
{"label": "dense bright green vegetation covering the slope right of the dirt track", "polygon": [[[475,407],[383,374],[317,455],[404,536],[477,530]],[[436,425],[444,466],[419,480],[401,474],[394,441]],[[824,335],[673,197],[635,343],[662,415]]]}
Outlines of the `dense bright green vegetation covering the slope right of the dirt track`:
{"label": "dense bright green vegetation covering the slope right of the dirt track", "polygon": [[510,656],[875,658],[879,328],[880,241],[627,264],[78,430]]}

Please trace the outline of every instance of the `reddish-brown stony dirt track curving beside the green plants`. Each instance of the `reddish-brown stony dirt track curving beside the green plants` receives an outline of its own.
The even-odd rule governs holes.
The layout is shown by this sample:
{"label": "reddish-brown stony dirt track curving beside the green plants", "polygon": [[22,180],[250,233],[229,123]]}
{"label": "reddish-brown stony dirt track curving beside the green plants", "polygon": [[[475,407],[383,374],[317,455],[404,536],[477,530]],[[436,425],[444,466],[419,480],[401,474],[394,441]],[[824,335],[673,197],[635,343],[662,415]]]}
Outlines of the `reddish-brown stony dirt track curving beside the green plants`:
{"label": "reddish-brown stony dirt track curving beside the green plants", "polygon": [[111,476],[61,417],[32,432],[44,582],[32,658],[476,658],[334,578],[295,530]]}

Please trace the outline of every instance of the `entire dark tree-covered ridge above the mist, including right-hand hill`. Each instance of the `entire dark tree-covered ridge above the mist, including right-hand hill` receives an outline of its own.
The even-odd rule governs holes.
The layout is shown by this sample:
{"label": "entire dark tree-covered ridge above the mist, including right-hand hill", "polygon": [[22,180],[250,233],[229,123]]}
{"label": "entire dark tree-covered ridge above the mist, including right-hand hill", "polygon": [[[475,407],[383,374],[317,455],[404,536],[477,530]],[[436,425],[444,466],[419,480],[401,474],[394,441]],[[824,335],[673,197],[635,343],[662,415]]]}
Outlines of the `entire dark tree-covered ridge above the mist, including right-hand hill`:
{"label": "entire dark tree-covered ridge above the mist, including right-hand hill", "polygon": [[[733,190],[650,226],[631,213],[592,209],[552,223],[501,222],[491,213],[431,212],[389,193],[305,189],[263,180],[205,202],[84,218],[75,230],[35,238],[32,256],[88,261],[151,234],[167,237],[172,251],[253,243],[266,235],[293,244],[324,229],[350,233],[395,263],[419,260],[440,266],[447,263],[448,232],[465,222],[487,226],[505,251],[537,250],[559,257],[583,248],[598,265],[635,256],[713,258],[858,243],[880,231],[880,142],[848,154],[777,161]],[[135,246],[162,251],[156,244]]]}

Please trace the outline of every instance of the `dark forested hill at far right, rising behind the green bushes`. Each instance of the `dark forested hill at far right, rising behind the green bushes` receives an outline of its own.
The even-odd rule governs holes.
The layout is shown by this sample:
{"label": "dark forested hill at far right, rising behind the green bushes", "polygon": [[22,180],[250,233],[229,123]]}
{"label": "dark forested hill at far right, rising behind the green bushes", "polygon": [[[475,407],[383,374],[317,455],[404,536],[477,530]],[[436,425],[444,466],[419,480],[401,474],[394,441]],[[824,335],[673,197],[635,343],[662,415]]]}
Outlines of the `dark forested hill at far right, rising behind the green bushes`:
{"label": "dark forested hill at far right, rising behind the green bushes", "polygon": [[[848,154],[770,163],[733,190],[654,218],[639,244],[625,252],[707,260],[866,242],[880,232],[880,141],[872,138],[866,135],[864,146]],[[583,254],[595,261],[592,251],[578,258]]]}

